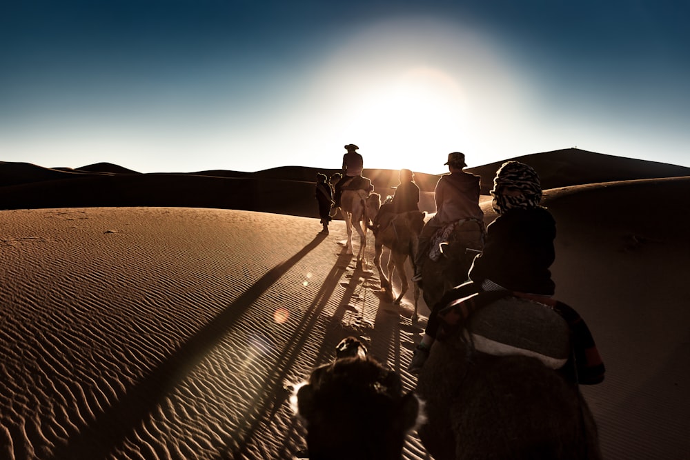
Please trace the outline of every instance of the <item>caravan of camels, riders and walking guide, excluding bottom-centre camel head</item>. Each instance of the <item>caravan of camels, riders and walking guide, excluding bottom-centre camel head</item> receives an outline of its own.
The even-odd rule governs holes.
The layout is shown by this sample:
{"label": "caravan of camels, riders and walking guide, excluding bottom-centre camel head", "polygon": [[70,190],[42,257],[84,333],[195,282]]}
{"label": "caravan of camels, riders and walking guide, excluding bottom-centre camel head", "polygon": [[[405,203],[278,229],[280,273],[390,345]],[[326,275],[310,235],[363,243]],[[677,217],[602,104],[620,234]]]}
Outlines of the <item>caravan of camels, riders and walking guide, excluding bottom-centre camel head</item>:
{"label": "caravan of camels, riders and walking guide, excluding bottom-centre camel head", "polygon": [[[480,177],[464,170],[463,153],[451,152],[444,163],[449,174],[435,186],[435,214],[405,233],[398,230],[410,230],[412,220],[404,216],[424,219],[414,173],[400,170],[395,194],[380,203],[371,181],[362,177],[358,147],[345,149],[342,174],[319,174],[319,216],[328,232],[332,206],[348,219],[344,191],[357,192],[360,208],[375,195],[377,213],[370,224],[365,212],[363,223],[377,244],[391,233],[413,242],[406,248],[417,287],[413,321],[420,289],[431,310],[407,368],[417,374],[416,390],[426,403],[426,424],[418,430],[424,446],[439,459],[478,458],[477,452],[481,458],[599,459],[595,421],[578,386],[601,383],[604,364],[582,317],[553,299],[555,219],[541,205],[537,172],[520,161],[500,166],[490,192],[497,217],[485,227]],[[452,257],[453,244],[464,246],[459,259]],[[391,258],[394,247],[388,246]],[[378,263],[377,268],[381,273]],[[449,270],[455,277],[446,277]],[[383,279],[382,274],[382,288]],[[449,286],[449,279],[460,283]],[[440,292],[428,296],[431,290]],[[485,392],[486,386],[501,389]],[[487,410],[494,412],[486,415]],[[497,447],[488,439],[496,439]]]}

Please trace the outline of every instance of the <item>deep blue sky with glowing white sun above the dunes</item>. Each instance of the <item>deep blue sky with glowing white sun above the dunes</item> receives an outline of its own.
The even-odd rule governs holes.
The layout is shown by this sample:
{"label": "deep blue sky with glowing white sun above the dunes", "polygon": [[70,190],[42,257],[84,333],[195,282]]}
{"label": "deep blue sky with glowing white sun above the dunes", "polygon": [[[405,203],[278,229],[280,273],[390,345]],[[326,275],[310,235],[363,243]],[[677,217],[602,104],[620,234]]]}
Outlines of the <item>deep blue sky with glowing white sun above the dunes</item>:
{"label": "deep blue sky with glowing white sun above the dunes", "polygon": [[577,147],[690,167],[690,2],[0,3],[0,161],[446,172]]}

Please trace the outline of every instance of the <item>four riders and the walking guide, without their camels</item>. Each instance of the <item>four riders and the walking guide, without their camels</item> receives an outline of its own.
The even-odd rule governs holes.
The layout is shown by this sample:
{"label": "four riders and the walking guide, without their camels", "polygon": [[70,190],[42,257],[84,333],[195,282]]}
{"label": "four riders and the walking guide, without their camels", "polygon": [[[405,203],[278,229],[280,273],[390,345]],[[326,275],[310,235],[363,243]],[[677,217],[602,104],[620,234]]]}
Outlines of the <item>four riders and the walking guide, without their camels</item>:
{"label": "four riders and the walking guide, without their camels", "polygon": [[[318,174],[317,199],[323,232],[328,232],[333,211],[341,206],[343,190],[373,190],[371,181],[362,177],[364,161],[358,149],[352,143],[345,146],[342,174],[336,173],[330,178]],[[444,237],[458,222],[479,224],[481,234],[477,238],[482,250],[477,251],[468,272],[460,274],[464,282],[444,290],[441,300],[428,306],[431,315],[425,334],[408,367],[414,373],[420,372],[424,365],[444,323],[440,312],[446,311],[449,304],[482,292],[529,294],[548,304],[555,292],[549,270],[555,259],[555,220],[549,210],[540,206],[542,189],[537,172],[519,161],[507,161],[497,170],[491,190],[492,207],[497,218],[484,228],[484,214],[479,206],[480,177],[464,170],[467,163],[462,152],[449,153],[444,164],[448,166],[449,174],[442,174],[435,186],[436,212],[417,235],[415,248],[410,254],[415,270],[412,281],[423,289],[422,269],[425,263],[430,260],[430,255],[438,257],[434,254],[438,253],[438,242],[447,240]],[[374,234],[382,232],[400,214],[418,212],[419,201],[420,188],[415,183],[414,173],[408,169],[400,170],[400,183],[395,194],[381,204],[368,227]],[[573,314],[582,323],[579,315],[574,311]],[[591,342],[593,346],[589,330],[586,326],[583,329],[584,332],[575,332],[586,336],[582,339],[584,343]],[[603,364],[597,359],[594,361],[587,364],[595,375],[581,374],[581,383],[585,380],[586,383],[598,383],[603,379]]]}

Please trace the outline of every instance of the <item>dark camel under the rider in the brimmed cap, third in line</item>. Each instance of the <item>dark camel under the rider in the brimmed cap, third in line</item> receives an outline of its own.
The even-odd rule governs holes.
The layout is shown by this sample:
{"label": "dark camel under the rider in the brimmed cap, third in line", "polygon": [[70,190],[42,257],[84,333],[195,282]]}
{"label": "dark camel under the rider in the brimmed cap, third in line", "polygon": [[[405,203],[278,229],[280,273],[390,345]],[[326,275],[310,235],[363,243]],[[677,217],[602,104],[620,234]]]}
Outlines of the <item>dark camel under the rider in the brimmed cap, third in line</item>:
{"label": "dark camel under the rider in the brimmed cap, third in line", "polygon": [[424,301],[431,310],[444,292],[467,281],[472,261],[484,248],[485,234],[484,221],[458,221],[447,241],[440,243],[441,257],[437,261],[426,259],[424,262],[422,281],[415,283],[415,299],[419,298],[422,290]]}

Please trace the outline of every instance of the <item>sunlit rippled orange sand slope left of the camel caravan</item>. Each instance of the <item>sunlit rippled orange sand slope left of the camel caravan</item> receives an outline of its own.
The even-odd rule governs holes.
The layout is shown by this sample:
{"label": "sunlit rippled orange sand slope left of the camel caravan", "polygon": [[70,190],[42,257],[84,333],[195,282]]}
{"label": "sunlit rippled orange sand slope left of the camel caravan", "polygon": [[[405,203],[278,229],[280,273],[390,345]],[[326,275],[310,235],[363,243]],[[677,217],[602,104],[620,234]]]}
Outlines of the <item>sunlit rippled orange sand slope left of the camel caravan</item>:
{"label": "sunlit rippled orange sand slope left of the camel caravan", "polygon": [[348,305],[386,316],[315,219],[89,208],[0,223],[2,459],[293,458],[284,384],[331,359]]}

